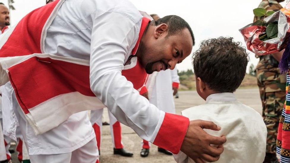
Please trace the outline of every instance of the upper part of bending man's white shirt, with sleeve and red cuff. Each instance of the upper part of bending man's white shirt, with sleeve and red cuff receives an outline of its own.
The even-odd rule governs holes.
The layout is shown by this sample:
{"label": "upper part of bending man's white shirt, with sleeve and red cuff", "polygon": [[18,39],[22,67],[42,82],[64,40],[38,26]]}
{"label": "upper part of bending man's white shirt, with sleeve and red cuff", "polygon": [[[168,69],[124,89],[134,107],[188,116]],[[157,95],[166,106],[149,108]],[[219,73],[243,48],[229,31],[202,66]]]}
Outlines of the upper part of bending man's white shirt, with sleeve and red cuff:
{"label": "upper part of bending man's white shirt, with sleeve and red cuff", "polygon": [[89,61],[90,88],[117,120],[145,140],[177,153],[188,118],[160,111],[121,74],[145,31],[143,16],[127,0],[60,2],[55,18],[44,29],[43,53]]}

